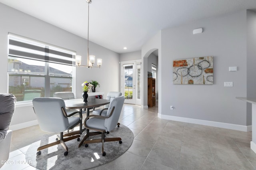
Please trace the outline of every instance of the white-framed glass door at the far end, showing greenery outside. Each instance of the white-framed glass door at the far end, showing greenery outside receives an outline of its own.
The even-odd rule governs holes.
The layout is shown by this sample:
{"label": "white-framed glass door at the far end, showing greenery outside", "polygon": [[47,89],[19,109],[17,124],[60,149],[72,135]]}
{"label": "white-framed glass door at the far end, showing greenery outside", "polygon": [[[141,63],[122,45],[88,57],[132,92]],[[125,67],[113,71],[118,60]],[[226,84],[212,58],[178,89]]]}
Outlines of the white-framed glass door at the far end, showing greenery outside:
{"label": "white-framed glass door at the far end, showing greenery outside", "polygon": [[[139,69],[138,69],[139,68]],[[140,101],[140,62],[121,62],[121,92],[124,103],[139,104]]]}

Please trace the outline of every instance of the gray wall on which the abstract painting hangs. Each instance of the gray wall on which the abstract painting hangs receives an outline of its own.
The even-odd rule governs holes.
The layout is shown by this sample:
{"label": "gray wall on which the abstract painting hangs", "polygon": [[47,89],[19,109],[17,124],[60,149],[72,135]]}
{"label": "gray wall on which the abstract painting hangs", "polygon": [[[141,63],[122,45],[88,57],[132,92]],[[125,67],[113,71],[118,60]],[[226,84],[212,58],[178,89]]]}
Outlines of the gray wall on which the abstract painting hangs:
{"label": "gray wall on which the abstract painting hangs", "polygon": [[[162,65],[159,69],[164,70],[159,87],[162,115],[251,125],[246,117],[246,103],[235,98],[246,97],[251,90],[255,92],[255,86],[247,91],[247,68],[250,68],[246,65],[246,25],[244,10],[162,30],[162,55],[159,55]],[[192,34],[201,27],[202,34]],[[172,84],[174,59],[203,56],[214,56],[213,85]],[[238,71],[229,72],[230,66],[237,66]],[[252,76],[255,79],[255,74]],[[233,81],[234,87],[224,87],[224,81]],[[170,105],[174,110],[170,110]]]}

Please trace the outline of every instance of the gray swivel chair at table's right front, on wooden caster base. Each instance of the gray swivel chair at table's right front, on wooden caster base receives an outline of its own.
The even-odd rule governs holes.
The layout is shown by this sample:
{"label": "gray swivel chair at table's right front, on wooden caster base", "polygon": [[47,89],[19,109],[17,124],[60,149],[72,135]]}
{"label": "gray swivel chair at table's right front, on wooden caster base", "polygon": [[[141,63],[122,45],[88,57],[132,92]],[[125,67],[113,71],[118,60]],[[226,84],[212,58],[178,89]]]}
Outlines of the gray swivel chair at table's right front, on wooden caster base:
{"label": "gray swivel chair at table's right front, on wooden caster base", "polygon": [[[85,140],[84,141],[85,147],[88,147],[89,143],[102,142],[102,156],[105,156],[106,152],[104,152],[104,142],[119,140],[119,143],[120,144],[122,143],[122,139],[119,137],[105,138],[105,132],[107,131],[110,132],[116,127],[123,105],[124,105],[124,96],[116,97],[110,102],[110,105],[107,109],[108,111],[106,116],[90,115],[89,117],[86,117],[86,119],[84,120],[84,127],[89,130],[95,130],[96,132],[99,132],[98,134],[101,134],[101,138],[93,139],[93,140]],[[96,132],[92,132],[92,133],[95,134]],[[89,136],[90,136],[90,133],[89,133]]]}

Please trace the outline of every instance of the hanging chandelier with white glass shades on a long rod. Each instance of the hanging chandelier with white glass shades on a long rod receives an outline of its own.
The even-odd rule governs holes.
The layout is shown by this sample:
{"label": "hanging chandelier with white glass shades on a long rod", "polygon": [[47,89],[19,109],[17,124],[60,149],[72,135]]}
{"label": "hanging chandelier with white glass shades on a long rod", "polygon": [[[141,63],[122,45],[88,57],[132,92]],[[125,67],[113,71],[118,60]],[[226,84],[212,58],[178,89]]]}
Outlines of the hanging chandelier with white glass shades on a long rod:
{"label": "hanging chandelier with white glass shades on a long rod", "polygon": [[78,67],[88,67],[90,69],[92,69],[92,67],[100,68],[100,66],[102,65],[102,59],[98,58],[97,66],[93,66],[93,64],[95,63],[95,55],[89,55],[89,4],[92,3],[92,0],[86,0],[86,2],[88,3],[87,65],[81,65],[81,55],[76,55],[76,65]]}

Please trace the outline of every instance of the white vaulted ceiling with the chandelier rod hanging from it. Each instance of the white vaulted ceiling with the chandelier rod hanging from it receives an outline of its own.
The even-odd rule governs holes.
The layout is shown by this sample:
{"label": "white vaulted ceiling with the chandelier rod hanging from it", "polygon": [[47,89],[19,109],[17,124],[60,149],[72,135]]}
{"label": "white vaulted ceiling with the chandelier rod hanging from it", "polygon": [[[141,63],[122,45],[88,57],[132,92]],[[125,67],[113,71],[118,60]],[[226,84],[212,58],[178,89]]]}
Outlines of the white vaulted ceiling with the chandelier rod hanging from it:
{"label": "white vaulted ceiling with the chandelier rod hanging from it", "polygon": [[[86,0],[0,2],[87,39]],[[92,0],[89,40],[118,53],[138,51],[164,28],[245,9],[256,9],[256,0]]]}

